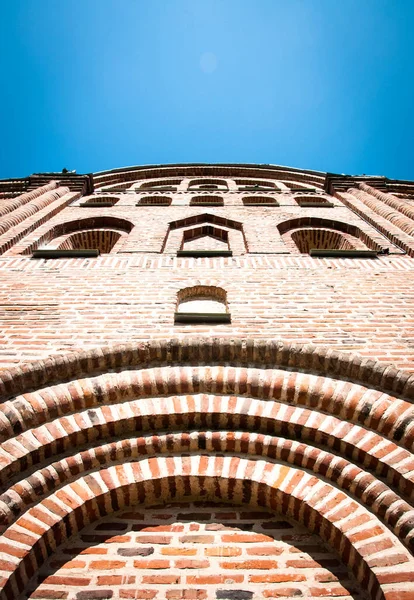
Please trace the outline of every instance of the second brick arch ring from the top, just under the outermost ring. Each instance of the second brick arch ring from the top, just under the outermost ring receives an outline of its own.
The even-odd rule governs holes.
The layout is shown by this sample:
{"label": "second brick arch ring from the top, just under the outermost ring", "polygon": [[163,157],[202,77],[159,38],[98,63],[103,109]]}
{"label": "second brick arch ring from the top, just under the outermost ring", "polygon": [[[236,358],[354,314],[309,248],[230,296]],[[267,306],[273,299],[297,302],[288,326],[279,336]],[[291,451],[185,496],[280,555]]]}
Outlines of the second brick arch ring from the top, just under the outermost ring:
{"label": "second brick arch ring from the top, just under the outermost ring", "polygon": [[414,406],[411,402],[340,379],[290,370],[217,364],[108,372],[83,379],[81,387],[69,381],[39,388],[35,393],[19,395],[0,405],[0,439],[19,435],[59,414],[74,412],[79,406],[184,393],[281,401],[368,427],[408,450],[414,444]]}

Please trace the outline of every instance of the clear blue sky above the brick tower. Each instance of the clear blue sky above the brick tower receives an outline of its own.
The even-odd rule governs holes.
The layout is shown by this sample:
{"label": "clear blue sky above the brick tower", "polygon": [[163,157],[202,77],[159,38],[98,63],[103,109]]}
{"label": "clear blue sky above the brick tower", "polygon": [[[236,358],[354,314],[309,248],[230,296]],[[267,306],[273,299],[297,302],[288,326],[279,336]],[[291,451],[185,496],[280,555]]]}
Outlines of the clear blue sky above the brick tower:
{"label": "clear blue sky above the brick tower", "polygon": [[413,0],[0,10],[0,177],[257,162],[414,179]]}

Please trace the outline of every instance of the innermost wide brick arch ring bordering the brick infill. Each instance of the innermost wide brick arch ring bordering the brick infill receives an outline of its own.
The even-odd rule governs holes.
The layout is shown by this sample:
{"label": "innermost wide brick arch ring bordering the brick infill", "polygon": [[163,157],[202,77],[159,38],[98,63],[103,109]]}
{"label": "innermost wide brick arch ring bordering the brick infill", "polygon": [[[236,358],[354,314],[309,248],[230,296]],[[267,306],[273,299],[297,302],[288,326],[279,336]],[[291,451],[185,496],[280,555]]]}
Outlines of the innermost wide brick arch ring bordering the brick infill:
{"label": "innermost wide brick arch ring bordering the brick infill", "polygon": [[[332,512],[330,500],[334,495],[339,510]],[[186,498],[266,507],[304,523],[338,550],[371,598],[392,597],[378,581],[382,573],[375,556],[377,519],[343,492],[291,466],[197,454],[101,469],[29,509],[2,536],[1,600],[16,598],[56,546],[84,525],[126,506]],[[368,535],[362,543],[353,535],[361,520]],[[385,535],[381,538],[383,559],[403,564],[405,572],[413,574],[413,561],[407,552],[392,536]],[[396,585],[393,593],[395,589]]]}

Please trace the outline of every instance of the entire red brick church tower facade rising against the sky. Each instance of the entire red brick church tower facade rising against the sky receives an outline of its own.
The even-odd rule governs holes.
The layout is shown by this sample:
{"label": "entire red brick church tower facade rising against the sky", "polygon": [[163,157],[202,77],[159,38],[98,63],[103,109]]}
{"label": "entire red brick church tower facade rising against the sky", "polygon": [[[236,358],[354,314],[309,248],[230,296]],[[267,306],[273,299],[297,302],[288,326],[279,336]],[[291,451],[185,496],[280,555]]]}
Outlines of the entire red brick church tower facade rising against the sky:
{"label": "entire red brick church tower facade rising against the sky", "polygon": [[414,183],[0,182],[0,600],[414,599]]}

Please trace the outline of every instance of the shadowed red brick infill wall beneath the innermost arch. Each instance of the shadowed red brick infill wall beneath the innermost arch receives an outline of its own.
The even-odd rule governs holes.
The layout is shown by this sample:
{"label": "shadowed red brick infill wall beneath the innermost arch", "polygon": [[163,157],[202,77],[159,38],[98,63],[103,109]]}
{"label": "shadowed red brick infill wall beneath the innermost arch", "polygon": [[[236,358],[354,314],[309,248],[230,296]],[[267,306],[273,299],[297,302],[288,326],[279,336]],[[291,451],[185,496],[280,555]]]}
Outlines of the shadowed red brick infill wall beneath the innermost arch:
{"label": "shadowed red brick infill wall beneath the innermost arch", "polygon": [[33,599],[365,597],[318,535],[264,510],[208,502],[111,515],[61,546],[37,581]]}

